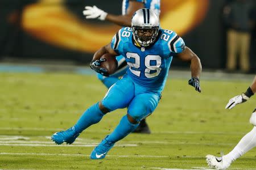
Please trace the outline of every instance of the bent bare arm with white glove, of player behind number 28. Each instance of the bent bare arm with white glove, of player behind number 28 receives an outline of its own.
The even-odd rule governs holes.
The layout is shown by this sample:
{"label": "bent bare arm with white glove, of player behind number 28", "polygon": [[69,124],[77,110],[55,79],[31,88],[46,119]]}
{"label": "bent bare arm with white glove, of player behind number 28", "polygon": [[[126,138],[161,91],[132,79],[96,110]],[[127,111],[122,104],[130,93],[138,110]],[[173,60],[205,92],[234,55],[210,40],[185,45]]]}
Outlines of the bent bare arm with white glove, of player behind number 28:
{"label": "bent bare arm with white glove, of player behind number 28", "polygon": [[133,16],[135,11],[143,7],[144,4],[142,2],[130,0],[129,7],[127,8],[125,15],[109,14],[97,8],[96,6],[86,6],[83,14],[86,16],[86,19],[98,18],[100,20],[108,20],[109,22],[121,25],[122,27],[131,27],[131,17]]}

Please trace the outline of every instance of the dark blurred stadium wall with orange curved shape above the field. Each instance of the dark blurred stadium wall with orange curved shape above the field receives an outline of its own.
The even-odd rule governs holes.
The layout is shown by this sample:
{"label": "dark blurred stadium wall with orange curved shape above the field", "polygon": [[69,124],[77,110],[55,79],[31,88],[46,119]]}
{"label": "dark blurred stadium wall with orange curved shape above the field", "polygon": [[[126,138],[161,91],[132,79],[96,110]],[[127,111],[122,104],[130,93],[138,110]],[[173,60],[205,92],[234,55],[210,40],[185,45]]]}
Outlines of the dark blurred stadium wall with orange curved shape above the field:
{"label": "dark blurred stadium wall with orange curved shape above the field", "polygon": [[[200,57],[204,69],[254,74],[255,1],[238,1],[249,4],[244,17],[248,18],[250,28],[242,30],[250,33],[249,70],[241,70],[239,64],[233,70],[226,67],[226,37],[232,27],[229,20],[232,17],[227,17],[226,11],[233,1],[162,0],[160,25],[183,37],[186,45]],[[82,10],[93,5],[112,14],[122,13],[121,0],[1,0],[0,62],[88,66],[93,53],[110,42],[121,28],[97,19],[86,20]],[[174,59],[172,67],[188,66]]]}

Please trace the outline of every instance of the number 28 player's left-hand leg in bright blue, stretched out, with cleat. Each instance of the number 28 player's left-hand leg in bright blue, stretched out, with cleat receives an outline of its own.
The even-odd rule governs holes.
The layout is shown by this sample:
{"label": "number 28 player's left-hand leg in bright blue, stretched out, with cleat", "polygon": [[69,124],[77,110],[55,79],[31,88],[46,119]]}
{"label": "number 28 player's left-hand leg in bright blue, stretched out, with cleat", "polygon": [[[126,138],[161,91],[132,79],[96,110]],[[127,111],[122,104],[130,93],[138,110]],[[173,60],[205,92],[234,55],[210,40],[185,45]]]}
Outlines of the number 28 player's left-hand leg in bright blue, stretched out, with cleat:
{"label": "number 28 player's left-hand leg in bright blue, stretched out, with cleat", "polygon": [[[52,141],[60,145],[63,142],[71,144],[79,134],[93,124],[97,124],[104,114],[118,108],[125,108],[133,98],[133,83],[122,79],[109,88],[104,99],[88,108],[77,121],[76,125],[65,131],[52,135]],[[122,96],[123,95],[123,96]]]}

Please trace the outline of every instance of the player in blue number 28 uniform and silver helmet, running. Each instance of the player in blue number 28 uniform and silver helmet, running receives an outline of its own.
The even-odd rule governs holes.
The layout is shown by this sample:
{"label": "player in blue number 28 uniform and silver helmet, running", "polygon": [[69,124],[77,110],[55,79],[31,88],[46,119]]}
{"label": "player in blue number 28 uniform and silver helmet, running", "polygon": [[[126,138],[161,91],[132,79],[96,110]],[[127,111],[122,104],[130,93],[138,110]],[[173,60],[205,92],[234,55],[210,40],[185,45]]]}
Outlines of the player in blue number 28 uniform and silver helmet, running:
{"label": "player in blue number 28 uniform and silver helmet, running", "polygon": [[172,58],[189,62],[192,78],[188,84],[201,92],[199,77],[201,62],[181,37],[174,31],[159,28],[159,18],[154,11],[142,8],[135,12],[131,27],[120,29],[112,41],[94,53],[90,67],[97,73],[106,74],[100,66],[105,53],[125,57],[129,66],[127,74],[109,88],[105,97],[92,105],[77,123],[65,131],[52,135],[57,144],[73,143],[79,134],[96,124],[108,112],[128,108],[127,114],[114,131],[94,148],[91,159],[103,159],[114,144],[135,130],[139,122],[149,116],[161,98]]}

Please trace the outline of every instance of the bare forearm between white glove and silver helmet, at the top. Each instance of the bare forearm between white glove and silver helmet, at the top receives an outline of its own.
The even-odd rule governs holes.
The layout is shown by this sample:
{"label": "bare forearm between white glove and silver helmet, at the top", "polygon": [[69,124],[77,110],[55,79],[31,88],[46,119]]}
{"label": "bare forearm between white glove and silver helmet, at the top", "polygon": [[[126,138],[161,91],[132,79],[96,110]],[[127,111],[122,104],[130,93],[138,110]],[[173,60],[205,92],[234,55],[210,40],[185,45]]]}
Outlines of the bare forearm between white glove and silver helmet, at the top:
{"label": "bare forearm between white glove and silver helmet, at the top", "polygon": [[118,24],[122,27],[131,27],[131,16],[129,15],[113,15],[108,14],[106,20]]}

